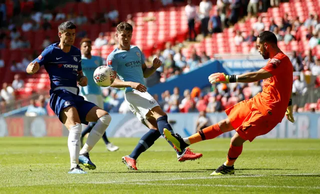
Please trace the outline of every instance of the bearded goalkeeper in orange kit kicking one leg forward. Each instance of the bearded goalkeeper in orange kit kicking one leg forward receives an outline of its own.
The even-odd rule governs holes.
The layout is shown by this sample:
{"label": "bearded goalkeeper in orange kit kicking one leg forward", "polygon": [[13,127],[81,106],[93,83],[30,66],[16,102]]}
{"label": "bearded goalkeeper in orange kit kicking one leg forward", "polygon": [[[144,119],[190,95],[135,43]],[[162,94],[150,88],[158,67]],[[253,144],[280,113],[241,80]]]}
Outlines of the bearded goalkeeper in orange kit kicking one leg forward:
{"label": "bearded goalkeeper in orange kit kicking one leg forward", "polygon": [[284,115],[290,122],[294,122],[290,99],[293,82],[290,59],[278,48],[276,36],[270,31],[261,32],[256,45],[262,57],[270,59],[266,66],[256,72],[241,75],[213,73],[209,76],[209,82],[249,83],[263,79],[262,92],[226,109],[227,119],[204,128],[190,137],[182,139],[178,134],[164,130],[165,137],[177,150],[183,150],[196,142],[213,139],[222,133],[235,130],[226,162],[211,175],[234,174],[233,164],[241,154],[245,141],[251,142],[255,137],[268,133],[282,121]]}

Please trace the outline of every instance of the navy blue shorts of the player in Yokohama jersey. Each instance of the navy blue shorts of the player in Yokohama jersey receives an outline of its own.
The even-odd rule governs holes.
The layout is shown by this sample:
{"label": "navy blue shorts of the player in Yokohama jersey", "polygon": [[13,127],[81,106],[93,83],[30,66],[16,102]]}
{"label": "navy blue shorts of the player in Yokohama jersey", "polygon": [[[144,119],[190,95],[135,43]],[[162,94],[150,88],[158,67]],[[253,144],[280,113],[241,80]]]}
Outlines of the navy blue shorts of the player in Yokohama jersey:
{"label": "navy blue shorts of the player in Yokohama jersey", "polygon": [[69,106],[76,108],[81,123],[87,125],[88,122],[85,120],[85,117],[87,113],[96,105],[85,101],[82,96],[75,95],[64,89],[59,89],[51,93],[50,107],[61,122],[62,120],[60,118],[60,113],[64,108]]}

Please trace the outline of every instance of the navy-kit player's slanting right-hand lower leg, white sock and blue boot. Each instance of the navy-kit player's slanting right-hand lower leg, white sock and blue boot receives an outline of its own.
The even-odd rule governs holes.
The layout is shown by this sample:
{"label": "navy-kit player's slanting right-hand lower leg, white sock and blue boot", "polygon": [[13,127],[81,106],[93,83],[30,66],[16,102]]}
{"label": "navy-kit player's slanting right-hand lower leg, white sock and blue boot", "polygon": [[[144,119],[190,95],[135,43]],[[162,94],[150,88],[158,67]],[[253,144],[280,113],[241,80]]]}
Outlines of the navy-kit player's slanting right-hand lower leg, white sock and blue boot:
{"label": "navy-kit player's slanting right-hand lower leg, white sock and blue boot", "polygon": [[79,156],[79,164],[83,165],[87,169],[94,170],[96,166],[91,162],[89,158],[89,152],[92,150],[94,145],[100,140],[102,134],[105,132],[106,128],[109,126],[111,122],[111,116],[106,114],[101,116],[91,132],[88,135],[88,139],[86,140],[83,148],[80,151]]}

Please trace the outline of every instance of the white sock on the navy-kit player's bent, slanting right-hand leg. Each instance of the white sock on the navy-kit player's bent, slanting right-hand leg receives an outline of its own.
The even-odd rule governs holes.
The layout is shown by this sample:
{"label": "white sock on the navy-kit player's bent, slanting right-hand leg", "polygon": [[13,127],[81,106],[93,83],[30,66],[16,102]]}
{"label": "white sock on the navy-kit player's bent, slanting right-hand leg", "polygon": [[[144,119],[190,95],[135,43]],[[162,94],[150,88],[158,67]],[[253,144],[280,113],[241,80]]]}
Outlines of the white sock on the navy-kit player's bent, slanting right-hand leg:
{"label": "white sock on the navy-kit player's bent, slanting right-hand leg", "polygon": [[109,126],[111,122],[110,115],[103,115],[98,119],[92,130],[90,131],[88,138],[80,151],[80,154],[89,153],[94,145],[101,139],[103,133],[106,128]]}

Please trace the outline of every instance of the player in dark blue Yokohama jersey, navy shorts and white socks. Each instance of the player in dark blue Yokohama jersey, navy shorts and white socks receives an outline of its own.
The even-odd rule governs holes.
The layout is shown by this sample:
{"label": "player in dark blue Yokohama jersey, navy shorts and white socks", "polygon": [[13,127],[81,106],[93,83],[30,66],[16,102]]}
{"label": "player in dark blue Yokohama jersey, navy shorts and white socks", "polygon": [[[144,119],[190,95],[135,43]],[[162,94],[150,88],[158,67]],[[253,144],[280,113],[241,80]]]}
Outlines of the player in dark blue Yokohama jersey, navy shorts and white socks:
{"label": "player in dark blue Yokohama jersey, navy shorts and white socks", "polygon": [[[76,26],[70,22],[62,22],[58,26],[60,42],[46,47],[26,68],[28,74],[36,73],[44,66],[50,78],[50,107],[59,120],[69,130],[67,145],[70,153],[69,174],[86,174],[80,167],[95,169],[90,161],[89,151],[99,141],[108,127],[110,115],[79,96],[77,83],[84,87],[88,79],[82,73],[81,52],[72,46]],[[88,135],[87,141],[80,151],[81,123],[96,122]]]}

